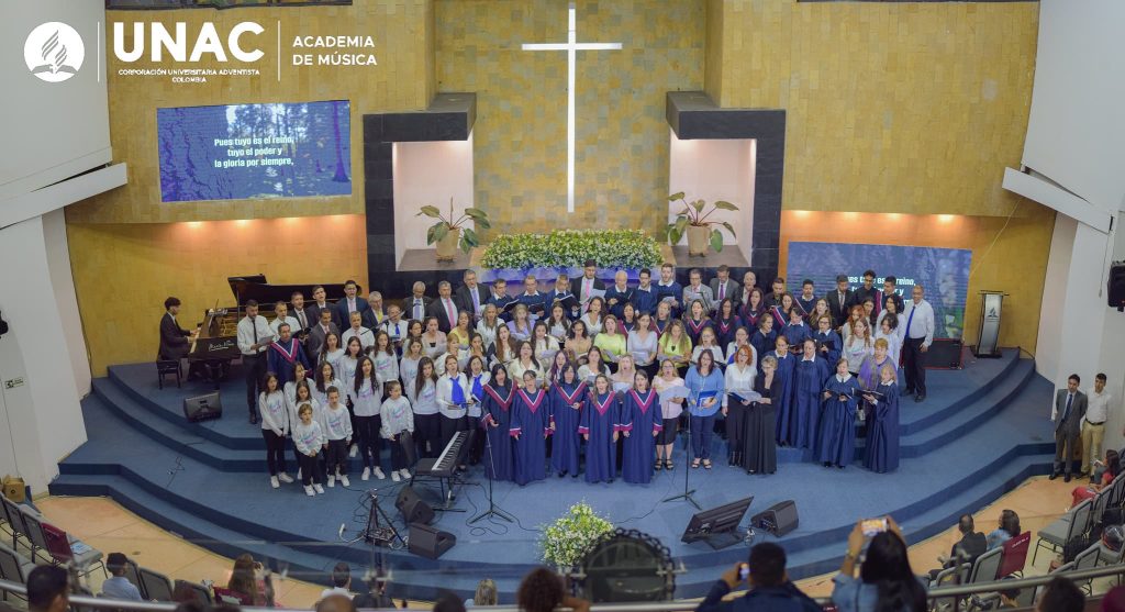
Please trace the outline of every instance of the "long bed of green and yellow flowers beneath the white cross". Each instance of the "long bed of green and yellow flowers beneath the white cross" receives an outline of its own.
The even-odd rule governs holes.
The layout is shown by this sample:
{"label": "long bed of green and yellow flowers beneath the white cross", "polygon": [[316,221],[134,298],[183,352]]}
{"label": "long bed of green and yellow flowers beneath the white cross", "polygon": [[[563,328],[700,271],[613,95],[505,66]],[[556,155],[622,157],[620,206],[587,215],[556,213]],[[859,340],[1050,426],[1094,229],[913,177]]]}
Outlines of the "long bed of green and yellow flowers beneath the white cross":
{"label": "long bed of green and yellow flowers beneath the white cross", "polygon": [[556,230],[550,234],[505,234],[485,249],[485,268],[651,268],[663,260],[660,245],[639,230]]}

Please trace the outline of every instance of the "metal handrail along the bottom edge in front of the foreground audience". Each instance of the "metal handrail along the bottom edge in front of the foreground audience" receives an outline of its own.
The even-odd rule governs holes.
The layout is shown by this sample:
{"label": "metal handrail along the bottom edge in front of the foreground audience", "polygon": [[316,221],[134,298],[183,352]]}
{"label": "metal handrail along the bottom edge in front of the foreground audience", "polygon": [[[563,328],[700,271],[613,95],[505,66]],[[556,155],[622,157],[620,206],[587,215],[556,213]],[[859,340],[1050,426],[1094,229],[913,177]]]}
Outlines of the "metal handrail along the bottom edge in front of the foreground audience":
{"label": "metal handrail along the bottom edge in front of the foreground audience", "polygon": [[[1012,580],[992,580],[988,583],[978,584],[964,584],[954,586],[940,586],[926,592],[927,600],[938,600],[946,597],[960,597],[963,595],[975,595],[979,593],[994,593],[1001,587],[1005,591],[1008,590],[1023,590],[1035,586],[1042,586],[1056,576],[1065,576],[1074,582],[1086,582],[1092,578],[1104,578],[1106,576],[1117,576],[1125,574],[1125,564],[1114,564],[1106,565],[1101,567],[1095,567],[1090,569],[1081,569],[1073,572],[1056,572],[1054,574],[1046,574],[1043,576],[1032,576],[1017,578]],[[16,593],[18,595],[26,595],[27,588],[19,584],[9,580],[0,580],[0,592]],[[91,597],[86,595],[74,595],[70,598],[72,605],[79,605],[84,608],[112,608],[115,610],[127,610],[128,612],[172,612],[176,610],[174,603],[158,603],[158,602],[135,602],[135,601],[122,601],[111,600],[108,597]],[[818,603],[828,603],[827,598],[817,600]],[[699,605],[699,601],[688,600],[677,600],[672,602],[638,602],[638,603],[598,603],[591,606],[591,612],[687,612],[695,610]],[[278,612],[279,610],[291,610],[291,612],[308,612],[305,609],[282,609],[282,608],[252,608],[252,606],[240,606],[243,612]],[[364,609],[368,610],[368,609]],[[395,609],[387,609],[390,612]],[[492,606],[474,606],[474,611],[480,612],[520,612],[520,609],[514,605],[492,605]],[[564,612],[560,609],[558,612]]]}

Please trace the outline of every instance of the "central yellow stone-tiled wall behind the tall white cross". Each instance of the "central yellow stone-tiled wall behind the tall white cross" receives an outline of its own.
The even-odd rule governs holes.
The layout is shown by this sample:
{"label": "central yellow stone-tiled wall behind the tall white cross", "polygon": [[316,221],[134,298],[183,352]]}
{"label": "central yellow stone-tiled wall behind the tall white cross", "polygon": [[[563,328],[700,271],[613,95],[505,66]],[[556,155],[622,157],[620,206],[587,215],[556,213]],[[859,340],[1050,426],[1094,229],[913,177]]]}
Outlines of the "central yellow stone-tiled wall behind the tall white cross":
{"label": "central yellow stone-tiled wall behind the tall white cross", "polygon": [[566,2],[436,0],[441,91],[476,91],[476,204],[495,231],[665,223],[665,93],[703,87],[702,0],[579,0],[575,213],[566,212]]}

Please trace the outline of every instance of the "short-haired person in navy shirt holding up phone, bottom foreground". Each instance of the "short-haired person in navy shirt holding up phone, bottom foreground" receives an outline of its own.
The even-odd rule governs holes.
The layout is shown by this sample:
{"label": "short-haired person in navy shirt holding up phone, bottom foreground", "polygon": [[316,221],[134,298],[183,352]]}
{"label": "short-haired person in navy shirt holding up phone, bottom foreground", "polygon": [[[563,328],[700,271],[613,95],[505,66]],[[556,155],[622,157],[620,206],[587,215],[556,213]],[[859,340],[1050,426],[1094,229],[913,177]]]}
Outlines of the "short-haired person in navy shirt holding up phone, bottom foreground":
{"label": "short-haired person in navy shirt holding up phone, bottom foreground", "polygon": [[[731,601],[728,593],[746,582],[749,591]],[[785,550],[764,542],[750,549],[749,562],[736,564],[714,583],[696,612],[819,612],[820,605],[801,593],[785,573]]]}

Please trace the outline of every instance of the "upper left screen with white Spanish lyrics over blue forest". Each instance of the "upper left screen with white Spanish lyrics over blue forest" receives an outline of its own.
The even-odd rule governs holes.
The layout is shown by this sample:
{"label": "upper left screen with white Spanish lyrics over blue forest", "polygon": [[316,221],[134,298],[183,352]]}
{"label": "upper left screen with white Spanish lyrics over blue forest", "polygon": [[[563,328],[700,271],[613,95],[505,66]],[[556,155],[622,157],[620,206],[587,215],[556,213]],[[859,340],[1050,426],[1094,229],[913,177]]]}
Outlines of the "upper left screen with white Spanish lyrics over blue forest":
{"label": "upper left screen with white Spanish lyrics over blue forest", "polygon": [[161,201],[351,195],[348,100],[156,110]]}

